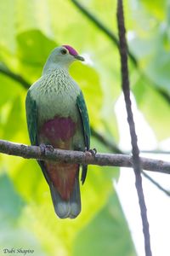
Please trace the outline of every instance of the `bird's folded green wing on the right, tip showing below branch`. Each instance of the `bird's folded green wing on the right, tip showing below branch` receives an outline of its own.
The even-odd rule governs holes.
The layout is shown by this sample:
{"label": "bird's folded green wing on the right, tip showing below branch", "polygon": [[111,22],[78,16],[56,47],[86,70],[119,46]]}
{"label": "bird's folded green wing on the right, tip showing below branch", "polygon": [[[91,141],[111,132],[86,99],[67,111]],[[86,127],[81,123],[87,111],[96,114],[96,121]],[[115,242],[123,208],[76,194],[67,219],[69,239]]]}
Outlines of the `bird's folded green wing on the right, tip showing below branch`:
{"label": "bird's folded green wing on the right, tip showing below branch", "polygon": [[[82,119],[85,147],[88,150],[90,148],[90,126],[89,126],[89,119],[88,119],[88,109],[86,107],[86,103],[84,101],[82,91],[77,96],[77,107],[78,107],[78,110],[79,110],[79,113],[80,113],[80,116]],[[83,165],[82,166],[82,177],[81,177],[82,183],[85,182],[87,170],[88,170],[88,166]]]}

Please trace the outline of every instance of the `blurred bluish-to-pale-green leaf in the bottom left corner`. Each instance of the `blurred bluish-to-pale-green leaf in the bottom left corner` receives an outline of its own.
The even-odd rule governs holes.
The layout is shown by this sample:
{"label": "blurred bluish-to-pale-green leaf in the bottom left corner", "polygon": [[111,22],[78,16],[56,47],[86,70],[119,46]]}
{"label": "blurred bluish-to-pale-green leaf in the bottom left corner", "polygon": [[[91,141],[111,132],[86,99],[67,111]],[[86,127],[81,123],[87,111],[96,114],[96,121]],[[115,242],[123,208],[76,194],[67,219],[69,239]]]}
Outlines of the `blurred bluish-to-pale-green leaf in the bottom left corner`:
{"label": "blurred bluish-to-pale-green leaf in the bottom left corner", "polygon": [[[26,226],[20,227],[20,218],[26,207],[26,202],[14,189],[14,185],[6,174],[0,176],[0,251],[8,253],[13,248],[13,253],[23,253],[30,249],[37,256],[46,255],[37,238],[26,230]],[[32,252],[32,253],[33,253]]]}

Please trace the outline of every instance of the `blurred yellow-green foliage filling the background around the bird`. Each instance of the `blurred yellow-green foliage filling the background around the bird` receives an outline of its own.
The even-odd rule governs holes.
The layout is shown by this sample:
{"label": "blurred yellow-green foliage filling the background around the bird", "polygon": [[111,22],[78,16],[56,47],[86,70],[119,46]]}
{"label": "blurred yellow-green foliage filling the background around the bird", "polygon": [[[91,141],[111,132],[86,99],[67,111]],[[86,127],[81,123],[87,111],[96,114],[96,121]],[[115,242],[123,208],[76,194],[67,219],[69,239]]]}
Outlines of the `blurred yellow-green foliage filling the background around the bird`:
{"label": "blurred yellow-green foliage filling the background around the bird", "polygon": [[[116,33],[116,1],[81,3]],[[138,61],[138,67],[129,61],[133,94],[161,140],[168,137],[170,125],[169,1],[130,0],[124,8],[129,49]],[[71,75],[83,90],[94,130],[118,142],[114,104],[121,94],[120,61],[118,49],[104,32],[69,0],[0,1],[0,24],[0,62],[30,84],[41,76],[54,47],[71,44],[86,56],[89,63],[75,63]],[[26,88],[3,73],[0,86],[1,138],[29,143]],[[94,137],[91,144],[109,151]],[[36,161],[0,155],[0,250],[25,247],[35,255],[52,256],[136,255],[112,184],[118,175],[116,168],[89,166],[80,216],[60,220]]]}

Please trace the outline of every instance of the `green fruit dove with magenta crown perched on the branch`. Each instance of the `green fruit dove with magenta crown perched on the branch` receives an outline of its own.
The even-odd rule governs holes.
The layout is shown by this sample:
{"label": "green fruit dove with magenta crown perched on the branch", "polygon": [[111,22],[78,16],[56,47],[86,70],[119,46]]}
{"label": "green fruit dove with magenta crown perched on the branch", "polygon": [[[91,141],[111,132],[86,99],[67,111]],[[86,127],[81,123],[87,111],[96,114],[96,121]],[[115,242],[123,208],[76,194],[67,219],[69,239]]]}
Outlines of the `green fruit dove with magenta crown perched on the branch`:
{"label": "green fruit dove with magenta crown perched on the branch", "polygon": [[[69,73],[74,61],[84,58],[70,45],[54,48],[42,76],[27,91],[26,121],[31,145],[88,151],[88,109],[82,90]],[[37,162],[48,183],[57,216],[77,218],[81,212],[80,165],[50,160]],[[82,165],[82,184],[87,170],[88,166]]]}

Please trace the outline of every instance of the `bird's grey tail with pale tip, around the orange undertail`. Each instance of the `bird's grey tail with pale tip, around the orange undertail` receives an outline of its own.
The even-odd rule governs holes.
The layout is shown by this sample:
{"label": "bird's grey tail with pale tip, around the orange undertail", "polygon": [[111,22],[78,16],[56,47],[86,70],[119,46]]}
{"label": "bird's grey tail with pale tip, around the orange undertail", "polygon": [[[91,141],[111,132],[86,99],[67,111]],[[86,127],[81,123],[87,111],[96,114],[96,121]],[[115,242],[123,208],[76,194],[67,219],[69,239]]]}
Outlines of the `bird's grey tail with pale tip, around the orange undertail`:
{"label": "bird's grey tail with pale tip, around the orange undertail", "polygon": [[61,198],[53,183],[50,183],[49,187],[54,203],[54,210],[59,218],[76,218],[81,212],[79,172],[76,174],[74,187],[71,196],[67,201]]}

